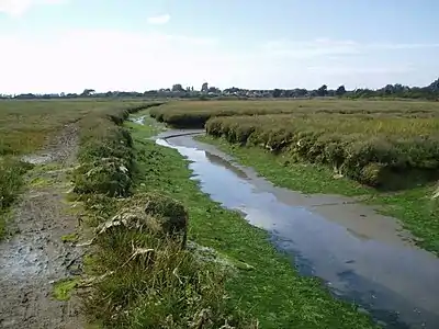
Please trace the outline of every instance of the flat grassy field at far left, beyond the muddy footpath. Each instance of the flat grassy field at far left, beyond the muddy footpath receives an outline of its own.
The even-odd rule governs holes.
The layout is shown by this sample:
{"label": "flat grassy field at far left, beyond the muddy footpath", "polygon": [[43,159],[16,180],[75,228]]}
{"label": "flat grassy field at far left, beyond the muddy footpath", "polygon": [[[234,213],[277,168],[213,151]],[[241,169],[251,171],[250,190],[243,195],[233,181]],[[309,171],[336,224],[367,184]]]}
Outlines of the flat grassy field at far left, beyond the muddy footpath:
{"label": "flat grassy field at far left, beyond the muddy footpath", "polygon": [[30,169],[19,156],[37,151],[65,125],[90,113],[137,104],[97,100],[0,101],[0,238],[4,235],[4,212],[15,200],[23,185],[23,174]]}

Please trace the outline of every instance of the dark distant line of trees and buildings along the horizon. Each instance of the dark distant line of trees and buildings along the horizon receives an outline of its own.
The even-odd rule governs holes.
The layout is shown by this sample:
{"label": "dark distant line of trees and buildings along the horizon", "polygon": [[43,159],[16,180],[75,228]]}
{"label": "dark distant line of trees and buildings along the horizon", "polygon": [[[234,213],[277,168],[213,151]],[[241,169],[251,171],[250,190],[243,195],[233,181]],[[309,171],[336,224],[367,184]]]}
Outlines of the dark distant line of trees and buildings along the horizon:
{"label": "dark distant line of trees and buildings along the horizon", "polygon": [[315,90],[303,88],[295,89],[272,89],[272,90],[249,90],[240,88],[227,88],[219,90],[218,88],[207,88],[207,83],[203,83],[201,91],[192,88],[183,88],[181,84],[175,84],[172,88],[148,90],[145,92],[136,91],[108,91],[95,92],[93,89],[85,89],[82,93],[21,93],[16,95],[0,94],[0,99],[18,99],[18,100],[49,100],[49,99],[76,99],[76,98],[187,98],[187,99],[210,99],[210,98],[238,98],[238,99],[263,99],[263,98],[322,98],[338,97],[349,99],[364,98],[402,98],[402,99],[426,99],[439,100],[439,79],[431,82],[427,87],[408,87],[399,83],[387,84],[380,89],[356,89],[347,90],[345,86],[338,87],[336,90],[328,89],[326,84]]}

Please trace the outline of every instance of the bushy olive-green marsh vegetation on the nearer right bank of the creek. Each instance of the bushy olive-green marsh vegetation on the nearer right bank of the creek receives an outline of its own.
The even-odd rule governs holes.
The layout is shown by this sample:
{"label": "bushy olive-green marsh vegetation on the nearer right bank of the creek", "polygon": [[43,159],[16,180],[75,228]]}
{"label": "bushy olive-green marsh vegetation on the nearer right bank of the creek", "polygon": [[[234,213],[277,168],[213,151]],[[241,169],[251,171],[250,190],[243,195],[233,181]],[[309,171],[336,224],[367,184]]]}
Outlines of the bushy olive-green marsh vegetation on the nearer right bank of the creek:
{"label": "bushy olive-green marsh vegetation on the nearer right bank of the creek", "polygon": [[[213,117],[207,134],[290,161],[322,163],[360,183],[402,190],[439,179],[439,118],[344,114]],[[401,180],[405,177],[405,180]]]}

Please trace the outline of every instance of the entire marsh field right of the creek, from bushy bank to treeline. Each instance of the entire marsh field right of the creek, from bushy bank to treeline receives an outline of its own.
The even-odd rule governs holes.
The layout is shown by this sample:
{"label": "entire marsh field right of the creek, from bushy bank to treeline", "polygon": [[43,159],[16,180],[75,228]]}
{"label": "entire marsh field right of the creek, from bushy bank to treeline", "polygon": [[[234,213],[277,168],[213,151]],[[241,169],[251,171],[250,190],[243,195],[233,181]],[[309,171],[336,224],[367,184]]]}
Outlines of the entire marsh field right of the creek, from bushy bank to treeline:
{"label": "entire marsh field right of the creek, from bushy bank to treeline", "polygon": [[[439,178],[439,104],[401,101],[180,102],[151,111],[232,144],[260,146],[395,190]],[[405,181],[398,177],[407,178]]]}

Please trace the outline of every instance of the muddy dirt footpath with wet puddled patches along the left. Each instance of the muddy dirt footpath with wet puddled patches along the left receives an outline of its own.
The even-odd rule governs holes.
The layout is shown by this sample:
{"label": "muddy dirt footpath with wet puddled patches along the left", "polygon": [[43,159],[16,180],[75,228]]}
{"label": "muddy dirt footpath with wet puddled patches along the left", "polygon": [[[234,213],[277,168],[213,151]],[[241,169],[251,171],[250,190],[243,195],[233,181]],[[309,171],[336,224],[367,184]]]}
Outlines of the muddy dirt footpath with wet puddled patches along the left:
{"label": "muddy dirt footpath with wet puddled patches along the left", "polygon": [[70,189],[66,169],[75,163],[77,146],[77,128],[67,125],[44,154],[25,158],[50,169],[31,172],[30,188],[13,211],[15,232],[0,243],[0,328],[83,328],[78,303],[53,297],[53,283],[75,274],[79,256],[61,241],[78,224],[64,202]]}

